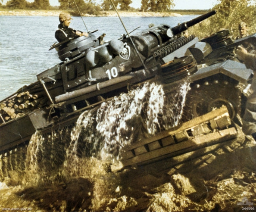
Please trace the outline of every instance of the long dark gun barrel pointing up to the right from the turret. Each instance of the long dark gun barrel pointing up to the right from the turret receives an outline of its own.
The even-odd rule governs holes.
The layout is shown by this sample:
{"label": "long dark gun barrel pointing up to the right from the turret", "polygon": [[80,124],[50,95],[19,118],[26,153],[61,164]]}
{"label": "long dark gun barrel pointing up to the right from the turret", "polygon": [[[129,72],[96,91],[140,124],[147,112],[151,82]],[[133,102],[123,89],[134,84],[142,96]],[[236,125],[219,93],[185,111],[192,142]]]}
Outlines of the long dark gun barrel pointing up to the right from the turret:
{"label": "long dark gun barrel pointing up to the right from the turret", "polygon": [[197,18],[194,18],[190,21],[184,22],[180,25],[177,25],[176,27],[171,28],[171,31],[174,35],[179,34],[183,31],[185,31],[186,29],[188,29],[188,27],[191,27],[191,26],[201,22],[202,20],[205,20],[206,18],[209,18],[210,16],[213,16],[215,14],[216,14],[215,10],[210,11],[210,12],[208,12],[206,14],[203,14],[203,15],[197,17]]}

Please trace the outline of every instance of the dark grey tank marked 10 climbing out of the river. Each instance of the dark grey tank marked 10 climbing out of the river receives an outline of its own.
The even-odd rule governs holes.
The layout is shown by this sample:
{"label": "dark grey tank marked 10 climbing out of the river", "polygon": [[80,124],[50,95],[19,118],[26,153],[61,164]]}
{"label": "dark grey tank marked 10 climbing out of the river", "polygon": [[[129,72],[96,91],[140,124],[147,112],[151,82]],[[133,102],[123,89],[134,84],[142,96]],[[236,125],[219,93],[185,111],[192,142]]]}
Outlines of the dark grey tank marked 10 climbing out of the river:
{"label": "dark grey tank marked 10 climbing out of the river", "polygon": [[[54,44],[61,62],[0,102],[0,152],[27,144],[36,131],[73,126],[84,111],[127,92],[130,85],[157,79],[173,88],[190,82],[183,122],[226,106],[239,122],[250,94],[252,70],[235,58],[238,45],[253,48],[256,34],[232,41],[229,30],[199,39],[182,32],[216,11],[175,27],[153,26],[99,45],[94,32]],[[232,95],[229,90],[233,90]]]}

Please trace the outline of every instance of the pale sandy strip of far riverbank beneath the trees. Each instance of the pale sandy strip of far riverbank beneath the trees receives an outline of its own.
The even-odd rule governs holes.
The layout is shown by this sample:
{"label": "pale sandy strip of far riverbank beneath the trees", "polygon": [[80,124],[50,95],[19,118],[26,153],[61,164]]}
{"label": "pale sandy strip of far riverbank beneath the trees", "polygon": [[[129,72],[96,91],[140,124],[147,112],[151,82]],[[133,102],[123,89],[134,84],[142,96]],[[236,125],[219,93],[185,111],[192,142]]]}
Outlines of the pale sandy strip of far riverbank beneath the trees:
{"label": "pale sandy strip of far riverbank beneath the trees", "polygon": [[[59,16],[59,10],[0,10],[0,16]],[[94,16],[89,14],[82,14],[83,16]],[[165,17],[165,16],[181,16],[176,13],[155,13],[155,12],[127,12],[119,11],[119,15],[122,17]],[[115,11],[104,11],[99,16],[117,16]]]}

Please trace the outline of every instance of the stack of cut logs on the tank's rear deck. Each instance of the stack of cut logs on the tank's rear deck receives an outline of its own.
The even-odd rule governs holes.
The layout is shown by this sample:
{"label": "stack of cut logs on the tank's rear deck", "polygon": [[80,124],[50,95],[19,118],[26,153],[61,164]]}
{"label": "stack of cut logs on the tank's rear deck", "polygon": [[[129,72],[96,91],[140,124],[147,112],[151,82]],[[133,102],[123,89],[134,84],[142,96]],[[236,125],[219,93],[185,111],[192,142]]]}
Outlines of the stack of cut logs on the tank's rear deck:
{"label": "stack of cut logs on the tank's rear deck", "polygon": [[30,94],[29,91],[17,93],[17,95],[0,103],[0,122],[6,122],[41,108],[48,104],[48,99],[43,92]]}

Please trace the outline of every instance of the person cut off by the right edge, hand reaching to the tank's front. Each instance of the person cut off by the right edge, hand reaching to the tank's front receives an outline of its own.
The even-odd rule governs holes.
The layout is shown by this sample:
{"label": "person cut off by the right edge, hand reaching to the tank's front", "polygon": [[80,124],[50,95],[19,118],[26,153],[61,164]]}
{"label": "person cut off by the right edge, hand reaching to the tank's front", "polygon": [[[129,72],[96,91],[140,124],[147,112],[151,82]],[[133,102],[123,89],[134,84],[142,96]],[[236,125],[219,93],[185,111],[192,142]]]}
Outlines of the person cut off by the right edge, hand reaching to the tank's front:
{"label": "person cut off by the right edge, hand reaching to the tank's front", "polygon": [[248,68],[254,70],[254,77],[251,83],[253,93],[247,99],[242,128],[246,135],[252,135],[256,140],[256,54],[248,53],[242,46],[238,46],[235,54],[238,55],[238,59],[244,61]]}

